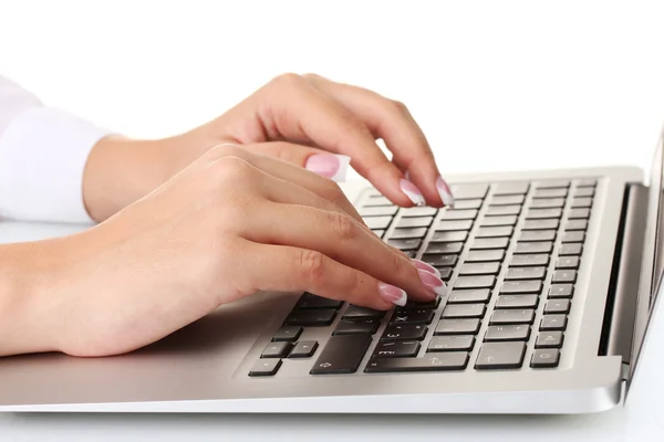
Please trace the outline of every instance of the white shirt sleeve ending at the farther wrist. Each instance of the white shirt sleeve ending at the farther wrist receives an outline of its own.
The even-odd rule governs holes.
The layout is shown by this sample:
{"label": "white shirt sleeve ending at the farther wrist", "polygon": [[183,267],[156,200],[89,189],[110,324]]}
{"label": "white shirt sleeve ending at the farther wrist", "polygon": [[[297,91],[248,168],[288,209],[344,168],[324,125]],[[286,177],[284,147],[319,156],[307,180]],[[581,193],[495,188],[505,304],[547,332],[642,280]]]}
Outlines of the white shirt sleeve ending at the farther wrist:
{"label": "white shirt sleeve ending at the farther wrist", "polygon": [[83,171],[110,134],[0,76],[0,219],[91,222]]}

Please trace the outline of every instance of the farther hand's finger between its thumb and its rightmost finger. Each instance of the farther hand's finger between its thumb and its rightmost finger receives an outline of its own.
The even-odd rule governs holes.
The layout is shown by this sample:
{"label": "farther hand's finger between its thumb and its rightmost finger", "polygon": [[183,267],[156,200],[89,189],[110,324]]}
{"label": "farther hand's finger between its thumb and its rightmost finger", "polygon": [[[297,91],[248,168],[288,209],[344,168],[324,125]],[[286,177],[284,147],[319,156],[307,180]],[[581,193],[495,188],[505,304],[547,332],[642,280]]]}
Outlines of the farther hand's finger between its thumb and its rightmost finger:
{"label": "farther hand's finger between its thumb and its rightmost finger", "polygon": [[299,75],[283,75],[276,82],[256,94],[263,103],[248,103],[259,109],[269,138],[313,141],[331,152],[347,155],[351,166],[394,203],[412,207],[424,202],[381,151],[369,128],[344,106]]}

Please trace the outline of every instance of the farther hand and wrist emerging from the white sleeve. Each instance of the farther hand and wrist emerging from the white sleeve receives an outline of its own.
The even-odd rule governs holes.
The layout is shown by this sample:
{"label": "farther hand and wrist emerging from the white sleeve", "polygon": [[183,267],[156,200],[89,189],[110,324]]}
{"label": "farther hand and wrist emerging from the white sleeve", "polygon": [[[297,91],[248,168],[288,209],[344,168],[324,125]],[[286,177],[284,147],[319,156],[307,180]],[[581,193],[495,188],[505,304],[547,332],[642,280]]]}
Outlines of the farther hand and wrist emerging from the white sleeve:
{"label": "farther hand and wrist emerging from the white sleeve", "polygon": [[[382,138],[390,161],[375,143]],[[339,155],[395,204],[452,204],[426,138],[407,108],[318,75],[281,75],[187,134],[159,141],[111,137],[93,150],[84,198],[101,221],[163,183],[212,146],[234,143],[331,177]],[[122,176],[122,179],[117,179]]]}

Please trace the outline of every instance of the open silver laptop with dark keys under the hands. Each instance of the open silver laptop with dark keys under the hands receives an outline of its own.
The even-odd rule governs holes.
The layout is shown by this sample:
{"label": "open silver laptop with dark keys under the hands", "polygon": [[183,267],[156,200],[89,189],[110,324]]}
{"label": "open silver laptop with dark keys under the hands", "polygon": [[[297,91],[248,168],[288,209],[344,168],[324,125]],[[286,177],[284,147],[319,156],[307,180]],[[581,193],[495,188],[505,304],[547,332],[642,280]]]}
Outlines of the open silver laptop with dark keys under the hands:
{"label": "open silver laptop with dark keys under the hands", "polygon": [[0,411],[609,410],[656,350],[642,343],[664,265],[662,176],[660,139],[647,180],[629,167],[448,177],[454,209],[343,183],[384,241],[438,270],[445,295],[377,312],[259,293],[128,355],[2,358]]}

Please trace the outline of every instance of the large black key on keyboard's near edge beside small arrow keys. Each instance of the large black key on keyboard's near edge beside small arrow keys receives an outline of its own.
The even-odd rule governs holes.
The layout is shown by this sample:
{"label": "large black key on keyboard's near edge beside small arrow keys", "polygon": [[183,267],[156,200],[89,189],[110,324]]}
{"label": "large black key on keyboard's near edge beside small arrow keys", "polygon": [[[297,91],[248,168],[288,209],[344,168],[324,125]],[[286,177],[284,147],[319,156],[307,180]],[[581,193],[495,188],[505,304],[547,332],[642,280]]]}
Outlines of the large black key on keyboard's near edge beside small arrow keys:
{"label": "large black key on keyboard's near edge beside small arrow keys", "polygon": [[371,335],[332,336],[319,355],[311,375],[340,375],[357,371],[371,345]]}

